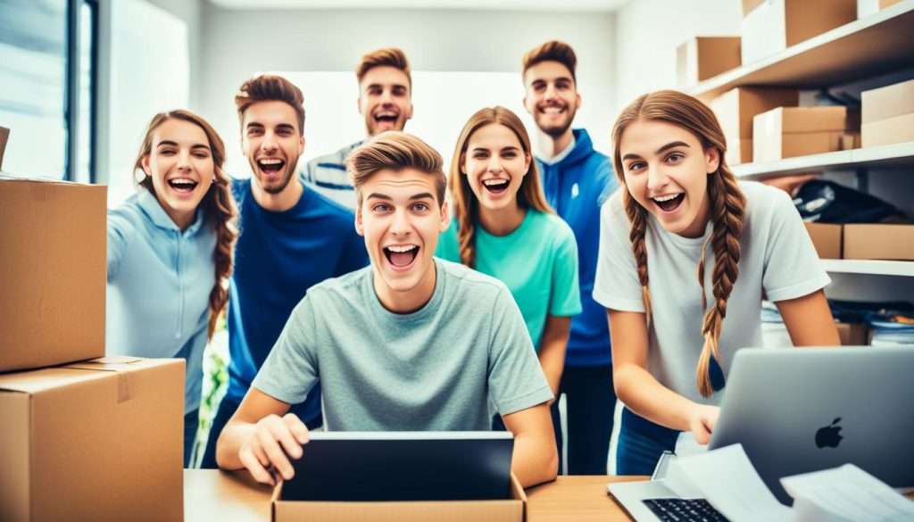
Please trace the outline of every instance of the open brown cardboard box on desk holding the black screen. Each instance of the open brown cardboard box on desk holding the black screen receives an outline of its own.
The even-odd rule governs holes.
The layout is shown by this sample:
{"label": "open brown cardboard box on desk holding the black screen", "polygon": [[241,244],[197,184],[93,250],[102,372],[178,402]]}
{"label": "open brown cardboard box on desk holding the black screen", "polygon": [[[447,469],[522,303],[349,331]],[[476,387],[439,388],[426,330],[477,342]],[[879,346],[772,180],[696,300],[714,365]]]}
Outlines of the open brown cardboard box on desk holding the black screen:
{"label": "open brown cardboard box on desk holding the black screen", "polygon": [[526,494],[511,475],[511,496],[505,500],[441,502],[314,502],[282,500],[282,483],[271,499],[272,522],[524,522]]}

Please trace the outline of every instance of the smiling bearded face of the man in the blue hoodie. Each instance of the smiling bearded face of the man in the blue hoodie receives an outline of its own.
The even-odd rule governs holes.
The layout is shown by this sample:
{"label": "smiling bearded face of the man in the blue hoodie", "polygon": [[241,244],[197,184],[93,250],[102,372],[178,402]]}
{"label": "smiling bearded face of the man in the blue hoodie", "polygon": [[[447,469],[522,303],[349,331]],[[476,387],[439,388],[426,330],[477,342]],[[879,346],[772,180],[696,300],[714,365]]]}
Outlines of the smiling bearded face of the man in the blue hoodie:
{"label": "smiling bearded face of the man in the blue hoodie", "polygon": [[566,133],[580,107],[571,71],[558,61],[541,61],[524,73],[524,107],[539,130],[553,138]]}

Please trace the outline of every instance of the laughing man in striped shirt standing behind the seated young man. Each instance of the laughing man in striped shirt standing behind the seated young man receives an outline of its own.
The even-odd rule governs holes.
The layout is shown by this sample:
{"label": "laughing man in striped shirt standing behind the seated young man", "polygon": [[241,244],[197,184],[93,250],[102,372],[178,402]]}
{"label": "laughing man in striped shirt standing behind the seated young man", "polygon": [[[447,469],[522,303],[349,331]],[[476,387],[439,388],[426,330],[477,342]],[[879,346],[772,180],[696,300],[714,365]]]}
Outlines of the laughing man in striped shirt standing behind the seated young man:
{"label": "laughing man in striped shirt standing behind the seated young man", "polygon": [[[383,48],[368,53],[356,68],[356,78],[358,112],[365,118],[368,137],[385,131],[402,131],[412,118],[412,76],[403,51]],[[304,182],[337,203],[355,209],[356,193],[346,173],[345,160],[363,143],[364,140],[359,140],[335,153],[314,158],[303,169]]]}

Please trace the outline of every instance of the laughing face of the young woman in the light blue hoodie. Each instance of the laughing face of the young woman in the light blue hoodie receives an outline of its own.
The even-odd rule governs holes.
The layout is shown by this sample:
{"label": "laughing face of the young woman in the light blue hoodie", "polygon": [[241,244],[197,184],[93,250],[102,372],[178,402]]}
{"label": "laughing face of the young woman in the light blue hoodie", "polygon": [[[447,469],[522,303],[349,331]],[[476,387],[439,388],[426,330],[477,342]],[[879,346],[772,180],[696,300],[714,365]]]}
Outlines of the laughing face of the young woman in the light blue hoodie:
{"label": "laughing face of the young woman in the light blue hoodie", "polygon": [[194,123],[165,120],[154,129],[152,148],[142,165],[165,213],[179,227],[186,227],[215,176],[207,134]]}

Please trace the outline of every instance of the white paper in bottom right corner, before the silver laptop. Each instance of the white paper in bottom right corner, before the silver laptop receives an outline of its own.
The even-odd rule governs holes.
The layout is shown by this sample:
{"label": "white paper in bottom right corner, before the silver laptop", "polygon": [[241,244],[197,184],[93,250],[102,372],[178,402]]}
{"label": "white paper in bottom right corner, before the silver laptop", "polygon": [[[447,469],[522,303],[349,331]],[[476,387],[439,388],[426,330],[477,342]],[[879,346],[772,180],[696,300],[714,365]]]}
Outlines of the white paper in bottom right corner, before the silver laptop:
{"label": "white paper in bottom right corner, before the silver laptop", "polygon": [[854,464],[781,479],[793,497],[793,522],[914,520],[911,502]]}

